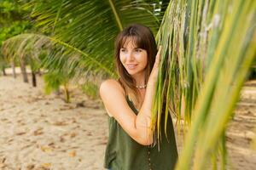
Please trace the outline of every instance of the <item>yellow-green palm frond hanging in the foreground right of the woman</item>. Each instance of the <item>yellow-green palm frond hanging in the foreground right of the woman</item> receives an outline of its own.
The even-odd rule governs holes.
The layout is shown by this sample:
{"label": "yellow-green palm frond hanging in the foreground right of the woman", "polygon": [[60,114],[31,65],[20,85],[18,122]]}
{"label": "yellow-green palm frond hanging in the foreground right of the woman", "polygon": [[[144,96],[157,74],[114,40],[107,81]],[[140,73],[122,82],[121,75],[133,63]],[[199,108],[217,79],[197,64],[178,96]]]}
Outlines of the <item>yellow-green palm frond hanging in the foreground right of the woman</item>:
{"label": "yellow-green palm frond hanging in the foreground right of the woman", "polygon": [[227,168],[225,128],[256,54],[255,8],[253,0],[169,3],[157,37],[164,50],[152,127],[160,132],[166,121],[162,107],[178,120],[184,114],[189,131],[177,169],[206,169],[211,159],[213,169],[218,159]]}

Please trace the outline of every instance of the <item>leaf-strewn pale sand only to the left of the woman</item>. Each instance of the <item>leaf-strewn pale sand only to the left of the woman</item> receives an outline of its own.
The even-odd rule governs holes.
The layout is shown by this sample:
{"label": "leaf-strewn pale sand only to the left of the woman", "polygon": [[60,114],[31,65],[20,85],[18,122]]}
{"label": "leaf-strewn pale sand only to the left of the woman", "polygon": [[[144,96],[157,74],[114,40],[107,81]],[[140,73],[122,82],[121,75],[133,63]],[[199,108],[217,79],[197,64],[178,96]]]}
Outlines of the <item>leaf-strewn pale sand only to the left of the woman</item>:
{"label": "leaf-strewn pale sand only to the left of the woman", "polygon": [[0,77],[0,169],[103,169],[106,112],[84,94],[65,104],[38,84]]}

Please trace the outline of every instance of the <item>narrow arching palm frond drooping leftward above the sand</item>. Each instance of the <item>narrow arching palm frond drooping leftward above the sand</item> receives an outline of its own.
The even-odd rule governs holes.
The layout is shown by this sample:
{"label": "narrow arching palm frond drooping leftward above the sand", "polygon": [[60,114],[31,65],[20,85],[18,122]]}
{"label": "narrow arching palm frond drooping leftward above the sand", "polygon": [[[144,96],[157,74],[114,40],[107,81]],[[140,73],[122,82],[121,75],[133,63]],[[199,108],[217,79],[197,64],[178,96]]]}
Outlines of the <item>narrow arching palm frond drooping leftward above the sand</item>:
{"label": "narrow arching palm frond drooping leftward above the sand", "polygon": [[[113,71],[110,71],[104,63],[98,62],[89,54],[85,54],[78,48],[53,37],[39,34],[20,34],[3,42],[3,54],[7,57],[22,58],[29,54],[29,57],[38,59],[38,55],[44,52],[43,49],[47,49],[48,54],[41,63],[48,71],[62,70],[64,63],[66,63],[65,69],[70,70],[70,72],[79,69],[79,71],[75,71],[77,74],[81,70],[83,75],[89,74],[89,71],[93,71],[94,74],[113,74]],[[87,62],[85,62],[86,60]],[[94,65],[94,67],[91,65]],[[78,77],[81,77],[81,75]]]}

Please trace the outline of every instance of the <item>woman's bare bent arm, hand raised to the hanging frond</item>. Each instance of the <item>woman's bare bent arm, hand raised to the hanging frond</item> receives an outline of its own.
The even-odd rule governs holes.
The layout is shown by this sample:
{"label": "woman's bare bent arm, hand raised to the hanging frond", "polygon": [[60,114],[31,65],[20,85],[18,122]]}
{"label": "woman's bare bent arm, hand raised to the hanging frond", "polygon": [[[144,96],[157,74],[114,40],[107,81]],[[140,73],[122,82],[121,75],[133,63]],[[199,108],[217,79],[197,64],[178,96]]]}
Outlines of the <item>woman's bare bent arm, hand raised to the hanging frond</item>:
{"label": "woman's bare bent arm, hand raised to the hanging frond", "polygon": [[143,145],[149,145],[153,142],[153,133],[149,133],[149,127],[159,63],[160,49],[156,55],[154,68],[148,78],[143,105],[137,115],[127,104],[125,91],[119,82],[107,80],[102,82],[100,87],[100,95],[108,112],[119,122],[120,126],[132,139]]}

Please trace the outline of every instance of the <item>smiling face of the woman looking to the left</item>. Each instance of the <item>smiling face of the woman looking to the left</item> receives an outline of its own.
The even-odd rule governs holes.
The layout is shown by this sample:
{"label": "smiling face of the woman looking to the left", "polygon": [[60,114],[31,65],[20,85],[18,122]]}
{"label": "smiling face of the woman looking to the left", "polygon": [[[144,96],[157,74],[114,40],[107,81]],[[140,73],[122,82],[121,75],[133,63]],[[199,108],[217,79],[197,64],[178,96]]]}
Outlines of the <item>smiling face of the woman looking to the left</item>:
{"label": "smiling face of the woman looking to the left", "polygon": [[131,75],[144,73],[148,65],[148,54],[145,49],[137,48],[131,38],[127,38],[125,47],[120,48],[119,58],[126,71]]}

